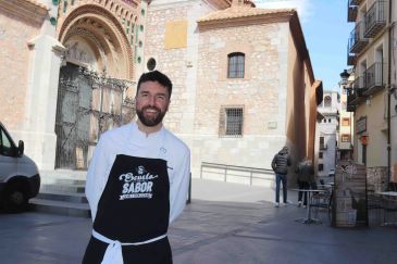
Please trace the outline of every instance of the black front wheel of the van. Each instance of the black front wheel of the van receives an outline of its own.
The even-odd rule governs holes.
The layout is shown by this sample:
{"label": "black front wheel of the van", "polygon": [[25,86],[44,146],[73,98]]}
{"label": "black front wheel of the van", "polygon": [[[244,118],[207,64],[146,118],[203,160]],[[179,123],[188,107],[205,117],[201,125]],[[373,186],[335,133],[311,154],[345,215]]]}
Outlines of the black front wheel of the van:
{"label": "black front wheel of the van", "polygon": [[27,196],[22,186],[13,184],[5,191],[5,208],[8,211],[17,213],[26,210]]}

